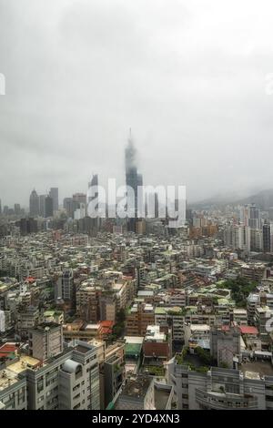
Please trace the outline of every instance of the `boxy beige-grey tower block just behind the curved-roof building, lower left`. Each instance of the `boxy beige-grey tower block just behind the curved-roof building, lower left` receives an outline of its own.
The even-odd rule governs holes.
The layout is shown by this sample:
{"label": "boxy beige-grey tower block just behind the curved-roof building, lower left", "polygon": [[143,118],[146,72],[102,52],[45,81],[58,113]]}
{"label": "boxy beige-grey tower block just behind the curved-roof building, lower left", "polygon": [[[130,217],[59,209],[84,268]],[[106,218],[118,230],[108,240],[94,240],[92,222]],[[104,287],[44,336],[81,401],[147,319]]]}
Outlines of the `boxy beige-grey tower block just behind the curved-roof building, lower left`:
{"label": "boxy beige-grey tower block just behind the curved-roof building, lower left", "polygon": [[29,331],[29,352],[44,362],[63,352],[63,326],[55,322],[39,324]]}

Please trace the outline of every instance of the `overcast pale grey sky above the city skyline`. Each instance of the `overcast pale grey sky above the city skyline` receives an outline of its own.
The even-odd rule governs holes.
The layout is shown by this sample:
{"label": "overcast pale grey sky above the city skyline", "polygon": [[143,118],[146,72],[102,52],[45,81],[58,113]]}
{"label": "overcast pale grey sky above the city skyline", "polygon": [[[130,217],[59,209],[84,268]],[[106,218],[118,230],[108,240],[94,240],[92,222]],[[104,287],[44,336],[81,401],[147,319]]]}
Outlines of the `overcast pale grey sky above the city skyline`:
{"label": "overcast pale grey sky above the city skyline", "polygon": [[0,198],[124,181],[273,188],[270,0],[0,0]]}

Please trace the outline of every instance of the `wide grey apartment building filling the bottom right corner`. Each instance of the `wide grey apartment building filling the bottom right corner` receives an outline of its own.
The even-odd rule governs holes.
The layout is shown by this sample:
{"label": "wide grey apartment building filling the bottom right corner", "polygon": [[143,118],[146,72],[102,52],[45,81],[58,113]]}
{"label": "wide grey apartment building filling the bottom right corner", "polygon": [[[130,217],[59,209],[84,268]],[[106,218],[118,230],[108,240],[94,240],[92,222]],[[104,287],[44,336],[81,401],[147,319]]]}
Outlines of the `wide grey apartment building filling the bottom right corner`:
{"label": "wide grey apartment building filling the bottom right corner", "polygon": [[179,410],[273,409],[273,376],[218,367],[197,372],[176,358],[167,367]]}

